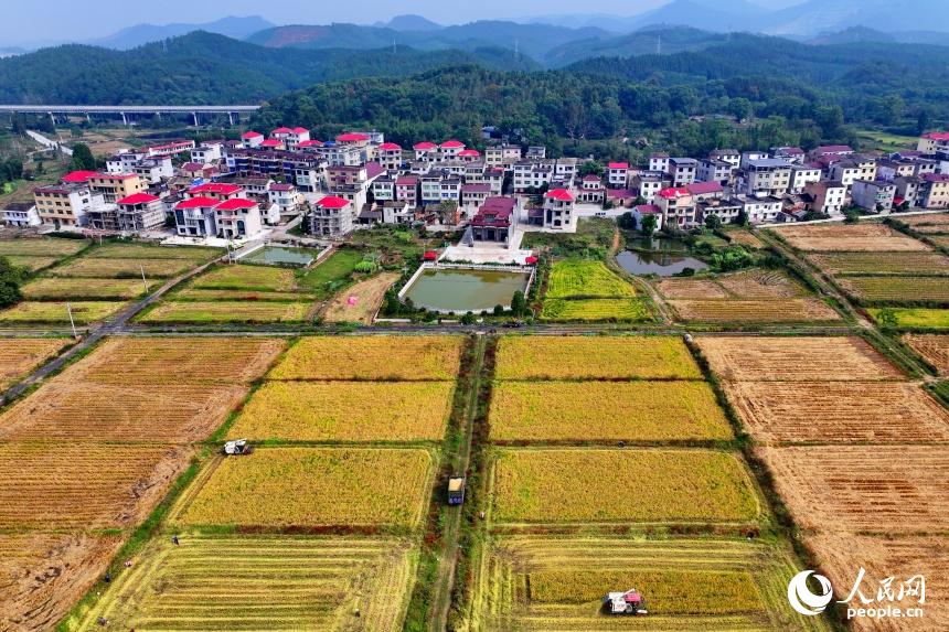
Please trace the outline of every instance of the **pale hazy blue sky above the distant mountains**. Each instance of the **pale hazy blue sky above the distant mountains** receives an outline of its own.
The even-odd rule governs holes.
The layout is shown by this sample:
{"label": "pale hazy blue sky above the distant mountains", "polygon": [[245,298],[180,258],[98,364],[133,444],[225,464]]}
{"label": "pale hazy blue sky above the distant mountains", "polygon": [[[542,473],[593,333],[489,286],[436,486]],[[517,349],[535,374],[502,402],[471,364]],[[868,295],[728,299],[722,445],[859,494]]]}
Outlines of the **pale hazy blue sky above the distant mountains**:
{"label": "pale hazy blue sky above the distant mountains", "polygon": [[[0,45],[44,40],[84,41],[109,35],[134,24],[213,22],[225,15],[263,15],[275,24],[371,24],[416,13],[440,24],[472,20],[523,19],[563,13],[635,15],[670,0],[4,0]],[[751,0],[786,6],[802,0]],[[152,10],[154,9],[154,10]],[[160,9],[160,10],[159,10]]]}

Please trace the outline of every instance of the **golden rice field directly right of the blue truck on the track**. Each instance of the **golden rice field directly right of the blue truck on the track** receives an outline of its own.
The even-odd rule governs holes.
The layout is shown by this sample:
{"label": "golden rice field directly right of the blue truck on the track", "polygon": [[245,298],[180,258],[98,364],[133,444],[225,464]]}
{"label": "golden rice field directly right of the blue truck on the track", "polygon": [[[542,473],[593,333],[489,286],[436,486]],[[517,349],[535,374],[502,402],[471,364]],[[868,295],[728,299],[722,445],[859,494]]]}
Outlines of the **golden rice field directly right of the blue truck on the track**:
{"label": "golden rice field directly right of the blue truck on the track", "polygon": [[500,523],[744,522],[759,514],[738,460],[710,450],[502,450]]}

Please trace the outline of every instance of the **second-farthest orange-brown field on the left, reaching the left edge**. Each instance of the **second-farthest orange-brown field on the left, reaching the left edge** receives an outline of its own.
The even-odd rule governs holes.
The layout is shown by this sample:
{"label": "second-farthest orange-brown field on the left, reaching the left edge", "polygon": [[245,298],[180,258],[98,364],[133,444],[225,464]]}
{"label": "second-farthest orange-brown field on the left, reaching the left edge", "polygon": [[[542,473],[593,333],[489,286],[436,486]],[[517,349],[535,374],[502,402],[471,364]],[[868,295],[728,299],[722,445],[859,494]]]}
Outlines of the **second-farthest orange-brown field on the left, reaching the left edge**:
{"label": "second-farthest orange-brown field on the left, reaching the left edge", "polygon": [[54,379],[0,414],[0,439],[203,441],[248,390],[241,384],[170,387]]}

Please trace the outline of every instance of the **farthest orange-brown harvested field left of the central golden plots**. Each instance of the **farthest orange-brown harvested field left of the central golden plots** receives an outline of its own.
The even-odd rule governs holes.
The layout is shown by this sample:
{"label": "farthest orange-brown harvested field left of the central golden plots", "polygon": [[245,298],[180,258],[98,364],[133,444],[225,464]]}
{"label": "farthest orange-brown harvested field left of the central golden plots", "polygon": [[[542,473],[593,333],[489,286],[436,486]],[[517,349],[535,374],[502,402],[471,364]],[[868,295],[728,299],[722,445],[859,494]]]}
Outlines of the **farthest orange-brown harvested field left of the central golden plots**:
{"label": "farthest orange-brown harvested field left of the central golden plots", "polygon": [[250,382],[267,371],[285,345],[273,338],[114,338],[63,377],[108,385]]}

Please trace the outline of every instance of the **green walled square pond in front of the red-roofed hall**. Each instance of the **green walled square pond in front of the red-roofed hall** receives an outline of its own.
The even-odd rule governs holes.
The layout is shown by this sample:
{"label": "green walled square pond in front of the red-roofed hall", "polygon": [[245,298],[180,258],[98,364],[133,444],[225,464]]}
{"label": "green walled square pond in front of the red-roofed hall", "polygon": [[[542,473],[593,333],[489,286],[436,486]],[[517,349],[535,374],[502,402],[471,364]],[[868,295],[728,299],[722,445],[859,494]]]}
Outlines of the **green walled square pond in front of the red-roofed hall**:
{"label": "green walled square pond in front of the red-roofed hall", "polygon": [[530,275],[495,270],[425,270],[403,294],[417,306],[480,313],[510,307],[514,292],[526,293]]}

